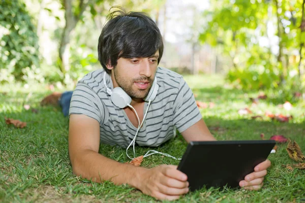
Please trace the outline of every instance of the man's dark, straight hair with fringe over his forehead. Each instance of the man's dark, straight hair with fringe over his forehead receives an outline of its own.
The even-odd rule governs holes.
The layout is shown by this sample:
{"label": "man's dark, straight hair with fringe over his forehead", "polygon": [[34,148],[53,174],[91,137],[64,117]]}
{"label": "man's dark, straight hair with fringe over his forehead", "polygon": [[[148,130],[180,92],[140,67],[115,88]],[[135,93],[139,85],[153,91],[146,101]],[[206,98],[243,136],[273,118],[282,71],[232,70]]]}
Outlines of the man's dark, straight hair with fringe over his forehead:
{"label": "man's dark, straight hair with fringe over his forehead", "polygon": [[[110,74],[106,64],[116,66],[117,59],[150,57],[159,50],[158,64],[163,54],[163,42],[156,23],[145,13],[127,13],[121,7],[107,16],[98,45],[99,61]],[[111,10],[110,9],[110,10]]]}

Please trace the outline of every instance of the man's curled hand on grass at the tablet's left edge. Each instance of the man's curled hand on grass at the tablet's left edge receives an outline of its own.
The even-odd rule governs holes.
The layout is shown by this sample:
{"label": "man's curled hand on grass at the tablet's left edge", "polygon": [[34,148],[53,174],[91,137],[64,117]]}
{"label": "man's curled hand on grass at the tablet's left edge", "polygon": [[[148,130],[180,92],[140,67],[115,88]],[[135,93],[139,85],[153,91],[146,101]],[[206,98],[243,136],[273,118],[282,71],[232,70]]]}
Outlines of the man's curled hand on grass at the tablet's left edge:
{"label": "man's curled hand on grass at the tablet's left edge", "polygon": [[189,191],[188,177],[175,165],[159,165],[140,175],[138,189],[157,199],[178,199]]}

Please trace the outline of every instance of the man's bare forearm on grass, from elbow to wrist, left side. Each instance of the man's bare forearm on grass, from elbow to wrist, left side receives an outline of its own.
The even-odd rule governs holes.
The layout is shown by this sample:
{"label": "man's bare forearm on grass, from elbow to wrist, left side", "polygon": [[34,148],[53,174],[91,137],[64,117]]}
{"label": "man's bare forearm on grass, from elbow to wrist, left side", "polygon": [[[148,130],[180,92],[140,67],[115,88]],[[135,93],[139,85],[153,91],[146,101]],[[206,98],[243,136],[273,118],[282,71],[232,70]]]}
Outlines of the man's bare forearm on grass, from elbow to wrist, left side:
{"label": "man's bare forearm on grass, from elbow to wrist, left side", "polygon": [[137,180],[147,168],[120,163],[95,151],[79,152],[71,160],[73,173],[95,182],[112,181],[116,185],[129,184],[137,187]]}

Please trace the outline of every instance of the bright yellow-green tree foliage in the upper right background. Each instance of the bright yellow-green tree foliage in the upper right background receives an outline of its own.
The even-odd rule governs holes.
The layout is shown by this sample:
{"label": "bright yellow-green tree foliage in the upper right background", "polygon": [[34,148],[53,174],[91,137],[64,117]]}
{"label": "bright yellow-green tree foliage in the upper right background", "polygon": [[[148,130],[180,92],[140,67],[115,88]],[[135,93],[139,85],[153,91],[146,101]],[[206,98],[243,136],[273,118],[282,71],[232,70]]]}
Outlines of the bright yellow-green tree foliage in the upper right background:
{"label": "bright yellow-green tree foliage in the upper right background", "polygon": [[[279,96],[291,99],[292,91],[286,90],[303,91],[305,83],[303,76],[297,76],[298,50],[305,39],[299,28],[302,1],[211,1],[211,9],[203,13],[207,22],[199,39],[221,47],[221,54],[231,59],[230,82],[248,90],[278,89],[288,92]],[[273,35],[270,27],[276,29]],[[269,44],[276,36],[280,56]]]}

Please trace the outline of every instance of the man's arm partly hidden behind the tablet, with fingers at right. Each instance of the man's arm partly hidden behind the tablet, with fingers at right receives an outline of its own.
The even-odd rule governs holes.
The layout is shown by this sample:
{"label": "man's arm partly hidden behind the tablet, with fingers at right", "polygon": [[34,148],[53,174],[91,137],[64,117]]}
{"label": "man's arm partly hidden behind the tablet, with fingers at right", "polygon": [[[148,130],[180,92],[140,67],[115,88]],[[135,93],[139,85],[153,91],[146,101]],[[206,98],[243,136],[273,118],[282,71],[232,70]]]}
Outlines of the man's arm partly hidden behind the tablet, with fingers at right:
{"label": "man's arm partly hidden behind the tablet, with fingers at right", "polygon": [[[191,141],[216,141],[203,119],[181,132],[181,134],[188,143]],[[259,190],[263,186],[267,168],[270,166],[271,162],[268,159],[261,162],[255,166],[253,173],[248,174],[245,177],[245,180],[239,182],[239,186],[249,190]]]}

